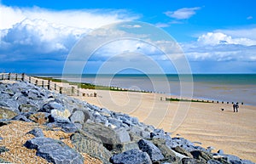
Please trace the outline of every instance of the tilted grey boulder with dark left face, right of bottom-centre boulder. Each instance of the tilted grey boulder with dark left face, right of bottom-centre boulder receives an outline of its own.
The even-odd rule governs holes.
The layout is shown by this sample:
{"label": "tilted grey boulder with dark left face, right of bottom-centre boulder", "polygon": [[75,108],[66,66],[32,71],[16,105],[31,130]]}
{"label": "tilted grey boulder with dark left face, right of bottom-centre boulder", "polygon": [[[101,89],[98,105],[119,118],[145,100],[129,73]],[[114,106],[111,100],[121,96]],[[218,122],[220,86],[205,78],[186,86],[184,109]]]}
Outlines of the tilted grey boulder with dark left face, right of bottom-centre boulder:
{"label": "tilted grey boulder with dark left face, right of bottom-centre boulder", "polygon": [[154,161],[160,161],[163,160],[165,157],[162,155],[161,151],[150,141],[141,139],[138,141],[138,146],[140,150],[143,150],[144,152],[148,153],[148,156],[150,156],[150,159]]}

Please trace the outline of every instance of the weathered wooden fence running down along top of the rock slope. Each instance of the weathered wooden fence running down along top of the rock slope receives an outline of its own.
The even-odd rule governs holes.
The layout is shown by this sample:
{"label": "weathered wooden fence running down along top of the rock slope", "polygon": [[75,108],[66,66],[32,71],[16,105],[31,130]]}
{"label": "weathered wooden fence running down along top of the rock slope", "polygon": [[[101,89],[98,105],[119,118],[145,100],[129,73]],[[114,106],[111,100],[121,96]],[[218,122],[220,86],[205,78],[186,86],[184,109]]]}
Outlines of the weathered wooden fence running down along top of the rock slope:
{"label": "weathered wooden fence running down along top of the rock slope", "polygon": [[27,76],[18,73],[0,73],[0,80],[15,80],[32,83],[38,87],[54,90],[57,93],[66,94],[68,96],[88,96],[96,97],[96,93],[84,93],[77,85],[70,85],[66,82],[52,82],[35,76]]}

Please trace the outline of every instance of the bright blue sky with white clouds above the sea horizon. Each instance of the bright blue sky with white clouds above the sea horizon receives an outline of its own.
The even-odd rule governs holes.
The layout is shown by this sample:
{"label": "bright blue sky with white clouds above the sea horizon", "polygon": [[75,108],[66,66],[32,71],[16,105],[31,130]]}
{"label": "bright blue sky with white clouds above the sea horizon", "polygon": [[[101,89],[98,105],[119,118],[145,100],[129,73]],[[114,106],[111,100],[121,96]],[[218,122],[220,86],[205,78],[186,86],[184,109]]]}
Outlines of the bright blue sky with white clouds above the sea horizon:
{"label": "bright blue sky with white clouds above the sea horizon", "polygon": [[[70,56],[76,45],[97,32],[97,38],[85,42],[85,48],[95,47],[92,42],[97,45],[99,37],[102,41],[123,37],[98,45],[88,59],[73,59],[73,67],[83,61],[83,72],[97,73],[108,63],[104,68],[111,73],[109,63],[125,65],[133,58],[136,64],[128,65],[133,70],[137,70],[137,64],[154,67],[145,62],[147,56],[164,73],[177,73],[175,68],[180,63],[176,64],[178,55],[172,49],[172,43],[177,42],[179,54],[183,52],[183,62],[188,61],[192,73],[256,73],[254,0],[0,2],[0,71],[61,73],[70,64],[67,60],[73,59]],[[116,25],[130,21],[137,22],[132,24],[134,31]],[[108,31],[97,30],[106,25]],[[149,26],[154,30],[147,31]],[[160,37],[161,31],[172,41]],[[73,73],[77,73],[75,70]]]}

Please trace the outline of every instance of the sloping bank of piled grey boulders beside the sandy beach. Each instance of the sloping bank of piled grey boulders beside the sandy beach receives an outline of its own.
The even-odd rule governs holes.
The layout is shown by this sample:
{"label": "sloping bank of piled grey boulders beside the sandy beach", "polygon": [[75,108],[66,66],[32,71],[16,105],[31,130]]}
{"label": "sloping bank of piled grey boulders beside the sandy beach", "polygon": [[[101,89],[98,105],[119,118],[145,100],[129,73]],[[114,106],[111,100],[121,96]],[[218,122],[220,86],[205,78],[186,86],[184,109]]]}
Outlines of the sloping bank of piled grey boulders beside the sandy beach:
{"label": "sloping bank of piled grey boulders beside the sandy beach", "polygon": [[[137,118],[90,105],[27,82],[0,82],[0,127],[14,121],[34,122],[32,139],[23,146],[51,163],[85,163],[86,153],[103,163],[208,163],[252,164],[222,150],[196,146],[183,138],[172,138],[162,129]],[[42,129],[43,128],[43,129]],[[73,148],[43,130],[68,133]],[[0,134],[0,141],[4,139]],[[0,152],[9,149],[1,146]],[[0,158],[1,161],[1,158]]]}

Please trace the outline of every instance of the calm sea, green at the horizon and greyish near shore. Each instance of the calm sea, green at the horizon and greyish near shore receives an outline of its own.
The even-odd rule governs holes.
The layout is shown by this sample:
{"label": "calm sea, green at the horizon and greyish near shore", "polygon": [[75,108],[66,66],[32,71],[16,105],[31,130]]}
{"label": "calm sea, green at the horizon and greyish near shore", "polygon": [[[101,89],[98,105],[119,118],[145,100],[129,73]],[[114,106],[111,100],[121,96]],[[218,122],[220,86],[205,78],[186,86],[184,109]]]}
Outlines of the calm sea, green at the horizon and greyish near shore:
{"label": "calm sea, green at the horizon and greyish near shore", "polygon": [[206,99],[222,102],[239,102],[256,106],[256,74],[194,74],[194,75],[145,75],[145,74],[42,74],[102,86],[166,93],[172,97]]}

